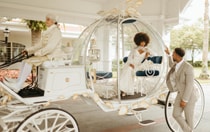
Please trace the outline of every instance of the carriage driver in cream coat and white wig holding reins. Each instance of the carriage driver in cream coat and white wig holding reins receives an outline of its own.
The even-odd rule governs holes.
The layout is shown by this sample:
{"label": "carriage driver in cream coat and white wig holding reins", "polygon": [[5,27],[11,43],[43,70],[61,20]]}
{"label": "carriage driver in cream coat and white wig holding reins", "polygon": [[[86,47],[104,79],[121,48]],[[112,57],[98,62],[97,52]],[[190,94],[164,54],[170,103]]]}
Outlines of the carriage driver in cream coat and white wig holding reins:
{"label": "carriage driver in cream coat and white wig holding reins", "polygon": [[3,83],[15,92],[18,92],[23,87],[25,80],[31,73],[33,65],[39,66],[44,61],[52,58],[53,55],[58,55],[62,52],[61,31],[58,28],[57,17],[54,14],[46,16],[46,26],[47,30],[42,33],[40,42],[26,48],[22,52],[23,54],[34,54],[34,56],[22,61],[18,79],[12,80],[5,77],[3,80]]}

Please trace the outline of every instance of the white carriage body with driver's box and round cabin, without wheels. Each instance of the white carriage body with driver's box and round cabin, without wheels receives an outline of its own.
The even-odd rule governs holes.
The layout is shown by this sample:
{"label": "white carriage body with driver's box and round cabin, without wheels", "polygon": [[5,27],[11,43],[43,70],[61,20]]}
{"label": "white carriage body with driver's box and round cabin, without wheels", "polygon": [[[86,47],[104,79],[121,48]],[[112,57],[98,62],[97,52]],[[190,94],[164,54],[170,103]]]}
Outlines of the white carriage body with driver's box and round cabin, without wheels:
{"label": "white carriage body with driver's box and round cabin, without wheels", "polygon": [[[162,61],[158,66],[159,76],[152,79],[153,85],[144,89],[146,96],[121,100],[120,90],[117,86],[122,65],[118,62],[122,61],[128,51],[135,46],[129,40],[132,40],[135,33],[140,31],[144,31],[150,36],[152,41],[149,48],[154,55],[162,56]],[[145,100],[151,95],[160,93],[161,89],[159,88],[163,84],[167,72],[167,58],[163,48],[164,44],[158,33],[138,18],[107,16],[107,18],[97,20],[75,42],[75,51],[70,57],[71,63],[68,60],[51,61],[39,67],[38,87],[44,90],[43,96],[23,98],[0,82],[6,93],[25,105],[21,111],[18,111],[16,104],[19,105],[19,103],[15,103],[14,107],[6,104],[6,107],[12,106],[13,108],[9,108],[11,114],[6,115],[7,120],[3,117],[2,122],[8,123],[8,120],[14,116],[13,113],[28,113],[25,114],[28,116],[31,109],[36,111],[40,109],[40,106],[49,102],[66,100],[76,94],[88,95],[103,111],[119,110],[120,113],[124,109],[130,112],[134,108],[145,105]],[[61,56],[60,58],[65,57]],[[148,83],[145,80],[143,82]],[[23,119],[24,116],[16,120],[16,123]],[[4,130],[7,129],[5,124],[1,124],[1,126]]]}

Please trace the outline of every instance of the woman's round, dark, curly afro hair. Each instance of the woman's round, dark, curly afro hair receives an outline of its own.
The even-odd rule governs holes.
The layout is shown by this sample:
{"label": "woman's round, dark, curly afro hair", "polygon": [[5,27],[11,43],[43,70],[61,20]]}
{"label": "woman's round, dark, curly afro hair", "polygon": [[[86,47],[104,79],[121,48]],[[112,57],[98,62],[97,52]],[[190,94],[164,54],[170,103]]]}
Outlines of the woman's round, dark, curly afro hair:
{"label": "woman's round, dark, curly afro hair", "polygon": [[150,38],[146,33],[139,32],[135,35],[133,40],[137,46],[139,46],[141,42],[145,42],[145,46],[147,46]]}

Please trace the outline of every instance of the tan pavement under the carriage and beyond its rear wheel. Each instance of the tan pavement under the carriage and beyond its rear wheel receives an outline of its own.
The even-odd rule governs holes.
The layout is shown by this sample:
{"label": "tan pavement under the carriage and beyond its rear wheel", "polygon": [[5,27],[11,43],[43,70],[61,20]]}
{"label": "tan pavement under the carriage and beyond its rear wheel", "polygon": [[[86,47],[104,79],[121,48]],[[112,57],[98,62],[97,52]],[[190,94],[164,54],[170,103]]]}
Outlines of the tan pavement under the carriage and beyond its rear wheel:
{"label": "tan pavement under the carriage and beyond its rear wheel", "polygon": [[[210,132],[210,82],[201,84],[205,96],[203,117],[194,132]],[[77,98],[55,102],[57,107],[69,111],[77,120],[80,132],[170,132],[165,116],[164,107],[151,106],[143,113],[143,119],[152,119],[157,123],[141,126],[134,116],[120,116],[117,111],[104,112],[95,103]]]}

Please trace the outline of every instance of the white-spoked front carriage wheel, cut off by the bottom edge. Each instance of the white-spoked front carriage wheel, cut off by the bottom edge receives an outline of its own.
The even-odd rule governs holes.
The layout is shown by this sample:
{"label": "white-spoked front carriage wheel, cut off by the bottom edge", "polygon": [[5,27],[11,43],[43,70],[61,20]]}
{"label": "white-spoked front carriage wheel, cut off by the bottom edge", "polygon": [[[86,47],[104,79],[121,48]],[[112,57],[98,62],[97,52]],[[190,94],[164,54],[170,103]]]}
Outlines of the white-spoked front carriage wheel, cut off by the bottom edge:
{"label": "white-spoked front carriage wheel, cut off by the bottom edge", "polygon": [[16,132],[79,132],[75,118],[58,108],[46,108],[29,115]]}

